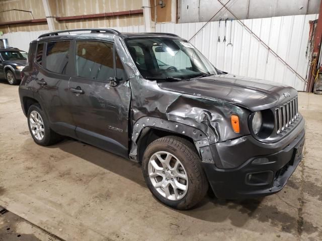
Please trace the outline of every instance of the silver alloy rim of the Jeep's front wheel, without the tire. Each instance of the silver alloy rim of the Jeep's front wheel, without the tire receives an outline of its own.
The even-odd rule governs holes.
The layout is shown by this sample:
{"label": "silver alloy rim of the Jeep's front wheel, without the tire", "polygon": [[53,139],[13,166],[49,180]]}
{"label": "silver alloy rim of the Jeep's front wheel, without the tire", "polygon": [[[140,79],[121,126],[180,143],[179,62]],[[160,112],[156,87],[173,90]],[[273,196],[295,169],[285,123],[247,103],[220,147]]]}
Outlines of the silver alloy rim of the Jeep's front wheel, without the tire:
{"label": "silver alloy rim of the Jeep's front wheel, without the tire", "polygon": [[177,201],[187,194],[187,172],[180,160],[169,152],[160,151],[151,156],[148,175],[155,190],[169,200]]}

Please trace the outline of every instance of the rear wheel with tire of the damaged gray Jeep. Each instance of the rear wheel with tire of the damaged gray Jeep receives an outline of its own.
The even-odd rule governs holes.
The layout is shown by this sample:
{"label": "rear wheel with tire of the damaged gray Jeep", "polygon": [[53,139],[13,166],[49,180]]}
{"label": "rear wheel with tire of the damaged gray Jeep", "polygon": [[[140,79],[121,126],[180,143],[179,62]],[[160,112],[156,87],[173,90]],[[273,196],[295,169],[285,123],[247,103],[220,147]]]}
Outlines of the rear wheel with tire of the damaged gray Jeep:
{"label": "rear wheel with tire of the damaged gray Jeep", "polygon": [[38,103],[29,107],[27,119],[29,132],[35,143],[49,146],[61,141],[62,137],[49,128],[48,118]]}

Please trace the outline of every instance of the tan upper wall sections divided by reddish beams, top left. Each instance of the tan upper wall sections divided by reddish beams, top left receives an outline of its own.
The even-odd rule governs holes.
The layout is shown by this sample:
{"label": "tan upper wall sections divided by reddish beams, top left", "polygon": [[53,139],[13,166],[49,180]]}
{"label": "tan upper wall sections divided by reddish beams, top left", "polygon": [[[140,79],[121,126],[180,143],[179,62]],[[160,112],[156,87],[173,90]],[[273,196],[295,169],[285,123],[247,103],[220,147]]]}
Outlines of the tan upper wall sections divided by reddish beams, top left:
{"label": "tan upper wall sections divided by reddish beams, top left", "polygon": [[[110,12],[121,12],[128,10],[140,10],[142,0],[49,0],[51,16],[70,17],[86,14],[100,14]],[[21,11],[9,11],[0,13],[0,23],[44,19],[46,18],[42,0],[0,0],[0,11],[6,10],[26,10],[30,13]],[[75,28],[107,28],[107,27],[124,27],[131,25],[143,25],[143,14],[130,16],[109,16],[93,19],[61,20],[54,21],[55,29],[75,29]],[[23,31],[45,31],[48,29],[47,23],[33,24],[11,24],[10,26],[0,26],[0,31],[23,32]]]}

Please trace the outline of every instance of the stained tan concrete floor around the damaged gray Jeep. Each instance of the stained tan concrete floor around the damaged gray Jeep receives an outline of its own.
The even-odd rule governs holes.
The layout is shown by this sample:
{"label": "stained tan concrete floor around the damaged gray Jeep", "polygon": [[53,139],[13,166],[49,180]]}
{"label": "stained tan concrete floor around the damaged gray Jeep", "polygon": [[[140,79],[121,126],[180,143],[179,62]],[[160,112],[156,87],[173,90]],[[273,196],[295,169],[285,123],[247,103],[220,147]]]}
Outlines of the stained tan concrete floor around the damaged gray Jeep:
{"label": "stained tan concrete floor around the damaged gray Jeep", "polygon": [[63,240],[321,240],[322,96],[299,93],[299,109],[305,157],[280,193],[177,211],[135,163],[73,140],[36,145],[18,86],[0,81],[0,205]]}

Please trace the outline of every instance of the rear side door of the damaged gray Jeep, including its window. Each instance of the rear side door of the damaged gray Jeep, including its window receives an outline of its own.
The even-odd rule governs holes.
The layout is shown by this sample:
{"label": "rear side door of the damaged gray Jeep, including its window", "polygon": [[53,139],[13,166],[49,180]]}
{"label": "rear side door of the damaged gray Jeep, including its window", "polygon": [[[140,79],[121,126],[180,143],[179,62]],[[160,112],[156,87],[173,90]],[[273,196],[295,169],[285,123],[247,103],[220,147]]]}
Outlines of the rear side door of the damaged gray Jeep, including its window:
{"label": "rear side door of the damaged gray Jeep, including its window", "polygon": [[69,60],[71,41],[38,43],[35,55],[35,97],[45,110],[53,131],[75,137],[68,108],[68,81],[73,74]]}

